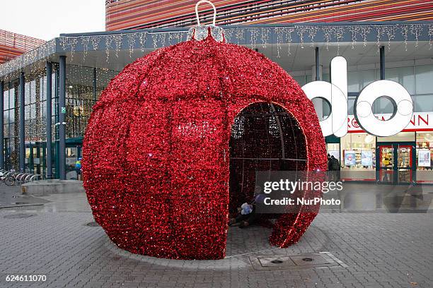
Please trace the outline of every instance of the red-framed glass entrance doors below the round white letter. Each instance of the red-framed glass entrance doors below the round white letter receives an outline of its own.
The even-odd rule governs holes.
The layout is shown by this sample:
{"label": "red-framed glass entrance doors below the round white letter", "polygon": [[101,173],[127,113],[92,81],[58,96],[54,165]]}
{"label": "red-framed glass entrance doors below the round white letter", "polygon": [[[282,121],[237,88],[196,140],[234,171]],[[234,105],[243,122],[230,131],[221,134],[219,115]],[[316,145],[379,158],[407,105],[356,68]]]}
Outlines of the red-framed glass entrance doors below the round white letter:
{"label": "red-framed glass entrance doors below the round white letter", "polygon": [[378,143],[376,179],[383,184],[415,182],[415,142]]}

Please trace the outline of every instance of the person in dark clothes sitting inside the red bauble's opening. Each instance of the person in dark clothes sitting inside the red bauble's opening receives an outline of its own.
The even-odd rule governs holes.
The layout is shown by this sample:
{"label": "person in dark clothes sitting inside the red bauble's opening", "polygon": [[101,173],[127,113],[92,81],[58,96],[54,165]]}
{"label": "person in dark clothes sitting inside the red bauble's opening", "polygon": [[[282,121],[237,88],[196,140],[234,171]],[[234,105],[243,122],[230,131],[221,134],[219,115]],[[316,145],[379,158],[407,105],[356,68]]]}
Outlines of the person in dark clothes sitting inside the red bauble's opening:
{"label": "person in dark clothes sitting inside the red bauble's opening", "polygon": [[238,208],[239,215],[236,218],[231,218],[229,226],[239,226],[239,228],[245,228],[252,224],[255,224],[260,220],[260,213],[257,212],[257,205],[263,203],[265,194],[262,193],[260,186],[255,186],[255,197],[251,204],[243,203]]}

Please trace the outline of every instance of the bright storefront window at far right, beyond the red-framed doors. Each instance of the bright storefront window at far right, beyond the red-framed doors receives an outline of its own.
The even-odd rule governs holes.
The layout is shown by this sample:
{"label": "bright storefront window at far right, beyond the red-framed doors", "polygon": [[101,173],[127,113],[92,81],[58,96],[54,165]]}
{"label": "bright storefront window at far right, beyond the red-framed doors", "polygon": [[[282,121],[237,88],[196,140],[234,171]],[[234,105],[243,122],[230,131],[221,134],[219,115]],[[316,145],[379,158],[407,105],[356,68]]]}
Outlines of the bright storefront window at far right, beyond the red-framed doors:
{"label": "bright storefront window at far right, beyond the red-framed doors", "polygon": [[433,184],[433,132],[417,133],[417,182]]}

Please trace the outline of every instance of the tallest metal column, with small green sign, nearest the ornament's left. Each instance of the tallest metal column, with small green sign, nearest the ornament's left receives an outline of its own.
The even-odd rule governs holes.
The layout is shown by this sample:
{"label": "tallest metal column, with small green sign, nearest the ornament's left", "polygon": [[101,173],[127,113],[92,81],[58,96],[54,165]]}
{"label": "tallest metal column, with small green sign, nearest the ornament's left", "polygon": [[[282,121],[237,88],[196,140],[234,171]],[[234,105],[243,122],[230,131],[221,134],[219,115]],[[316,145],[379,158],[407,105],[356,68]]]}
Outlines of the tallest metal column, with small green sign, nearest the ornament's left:
{"label": "tallest metal column, with small green sign, nearest the ornament's left", "polygon": [[59,56],[59,178],[66,179],[66,56]]}

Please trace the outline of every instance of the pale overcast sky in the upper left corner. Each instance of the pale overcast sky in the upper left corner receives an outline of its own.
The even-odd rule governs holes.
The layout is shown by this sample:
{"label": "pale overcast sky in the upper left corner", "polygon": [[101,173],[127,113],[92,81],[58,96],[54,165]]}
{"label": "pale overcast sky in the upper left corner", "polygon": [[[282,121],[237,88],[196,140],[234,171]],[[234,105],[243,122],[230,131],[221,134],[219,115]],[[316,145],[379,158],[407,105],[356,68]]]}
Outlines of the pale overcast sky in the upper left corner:
{"label": "pale overcast sky in the upper left corner", "polygon": [[0,29],[51,40],[105,30],[104,0],[1,0]]}

